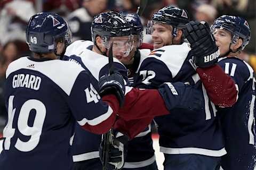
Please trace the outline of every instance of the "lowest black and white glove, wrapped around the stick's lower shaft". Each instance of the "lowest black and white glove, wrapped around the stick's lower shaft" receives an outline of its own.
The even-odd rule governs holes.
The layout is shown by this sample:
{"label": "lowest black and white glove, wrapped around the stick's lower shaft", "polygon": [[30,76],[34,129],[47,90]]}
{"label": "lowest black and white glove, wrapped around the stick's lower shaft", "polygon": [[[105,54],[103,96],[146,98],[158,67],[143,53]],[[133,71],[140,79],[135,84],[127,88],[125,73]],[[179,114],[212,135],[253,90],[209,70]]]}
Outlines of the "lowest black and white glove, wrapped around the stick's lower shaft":
{"label": "lowest black and white glove, wrapped around the stick's lower shaft", "polygon": [[[115,137],[113,140],[113,145],[110,146],[108,153],[104,153],[104,154],[108,154],[107,155],[108,170],[122,169],[125,163],[125,157],[127,152],[127,145],[128,145],[129,138],[120,132],[115,132],[114,135]],[[105,141],[102,140],[99,147],[99,155],[100,155],[101,163],[103,162],[102,158],[103,158],[104,143]]]}

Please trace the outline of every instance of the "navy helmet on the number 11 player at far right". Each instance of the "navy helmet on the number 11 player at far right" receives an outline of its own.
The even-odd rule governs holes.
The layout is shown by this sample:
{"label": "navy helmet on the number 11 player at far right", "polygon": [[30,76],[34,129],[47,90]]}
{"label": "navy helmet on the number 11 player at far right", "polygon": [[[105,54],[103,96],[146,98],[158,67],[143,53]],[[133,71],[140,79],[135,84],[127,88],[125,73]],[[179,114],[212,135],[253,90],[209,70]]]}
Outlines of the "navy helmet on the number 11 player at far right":
{"label": "navy helmet on the number 11 player at far right", "polygon": [[231,43],[236,43],[238,38],[242,38],[242,50],[251,39],[251,30],[248,22],[239,16],[222,15],[214,21],[211,27],[211,31],[214,31],[215,28],[226,29],[230,31],[233,35]]}

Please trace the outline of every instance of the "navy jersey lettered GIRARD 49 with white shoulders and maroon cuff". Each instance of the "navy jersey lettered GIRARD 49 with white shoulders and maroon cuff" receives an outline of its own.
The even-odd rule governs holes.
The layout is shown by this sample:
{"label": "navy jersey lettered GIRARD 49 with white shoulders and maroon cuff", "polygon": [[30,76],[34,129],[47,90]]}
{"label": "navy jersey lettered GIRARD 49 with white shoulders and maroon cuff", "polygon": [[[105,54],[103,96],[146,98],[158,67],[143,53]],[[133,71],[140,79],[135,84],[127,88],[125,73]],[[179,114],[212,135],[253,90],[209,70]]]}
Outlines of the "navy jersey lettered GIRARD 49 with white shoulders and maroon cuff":
{"label": "navy jersey lettered GIRARD 49 with white shoulders and maroon cuff", "polygon": [[75,122],[100,134],[115,121],[94,87],[90,74],[73,62],[29,57],[12,62],[6,71],[8,121],[0,169],[70,170]]}

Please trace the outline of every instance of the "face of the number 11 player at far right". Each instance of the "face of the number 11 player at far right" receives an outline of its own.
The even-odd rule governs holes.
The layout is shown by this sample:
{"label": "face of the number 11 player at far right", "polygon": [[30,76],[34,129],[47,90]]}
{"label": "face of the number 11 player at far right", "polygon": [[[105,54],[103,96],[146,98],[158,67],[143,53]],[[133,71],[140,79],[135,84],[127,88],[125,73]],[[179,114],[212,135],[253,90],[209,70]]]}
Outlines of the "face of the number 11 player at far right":
{"label": "face of the number 11 player at far right", "polygon": [[229,51],[229,44],[231,43],[231,33],[219,28],[215,28],[212,33],[216,39],[216,45],[220,49],[220,55],[226,54]]}

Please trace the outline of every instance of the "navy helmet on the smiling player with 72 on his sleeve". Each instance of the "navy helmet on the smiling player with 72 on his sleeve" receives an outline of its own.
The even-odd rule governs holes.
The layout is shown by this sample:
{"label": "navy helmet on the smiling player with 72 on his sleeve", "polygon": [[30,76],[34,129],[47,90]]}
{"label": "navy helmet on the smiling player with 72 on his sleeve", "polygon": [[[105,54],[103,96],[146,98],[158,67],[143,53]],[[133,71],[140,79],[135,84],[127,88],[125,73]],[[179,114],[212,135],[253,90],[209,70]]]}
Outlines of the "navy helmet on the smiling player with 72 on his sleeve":
{"label": "navy helmet on the smiling player with 72 on his sleeve", "polygon": [[172,35],[175,37],[177,35],[177,28],[185,25],[188,22],[189,17],[186,10],[181,10],[180,8],[174,6],[166,6],[153,14],[153,17],[147,25],[147,33],[152,33],[152,26],[154,23],[162,23],[172,25]]}

